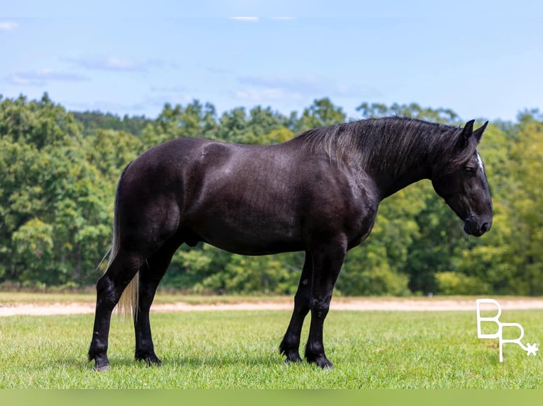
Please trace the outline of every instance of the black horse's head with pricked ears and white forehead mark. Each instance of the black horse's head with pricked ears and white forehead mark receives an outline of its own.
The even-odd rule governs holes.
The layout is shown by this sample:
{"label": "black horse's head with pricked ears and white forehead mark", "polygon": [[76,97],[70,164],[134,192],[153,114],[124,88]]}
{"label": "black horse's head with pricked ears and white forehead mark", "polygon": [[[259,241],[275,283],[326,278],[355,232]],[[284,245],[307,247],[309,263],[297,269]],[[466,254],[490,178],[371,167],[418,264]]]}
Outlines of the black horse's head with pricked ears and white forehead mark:
{"label": "black horse's head with pricked ears and white forehead mark", "polygon": [[476,146],[486,128],[474,131],[474,120],[459,130],[454,147],[454,158],[439,173],[432,174],[435,191],[464,221],[464,231],[471,236],[482,236],[492,225],[492,200],[483,161]]}

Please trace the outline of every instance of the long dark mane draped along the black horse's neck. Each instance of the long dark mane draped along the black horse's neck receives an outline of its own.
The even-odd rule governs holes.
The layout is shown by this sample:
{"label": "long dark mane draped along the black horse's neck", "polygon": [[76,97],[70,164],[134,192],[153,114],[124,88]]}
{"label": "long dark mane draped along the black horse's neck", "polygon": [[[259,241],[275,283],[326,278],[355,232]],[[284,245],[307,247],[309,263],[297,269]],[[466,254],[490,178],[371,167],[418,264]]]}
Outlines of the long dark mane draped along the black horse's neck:
{"label": "long dark mane draped along the black horse's neck", "polygon": [[396,172],[423,160],[455,170],[475,152],[477,141],[457,151],[459,127],[405,117],[359,120],[309,129],[292,141],[314,153],[362,169],[377,165]]}

